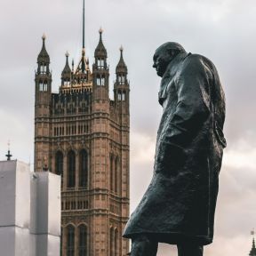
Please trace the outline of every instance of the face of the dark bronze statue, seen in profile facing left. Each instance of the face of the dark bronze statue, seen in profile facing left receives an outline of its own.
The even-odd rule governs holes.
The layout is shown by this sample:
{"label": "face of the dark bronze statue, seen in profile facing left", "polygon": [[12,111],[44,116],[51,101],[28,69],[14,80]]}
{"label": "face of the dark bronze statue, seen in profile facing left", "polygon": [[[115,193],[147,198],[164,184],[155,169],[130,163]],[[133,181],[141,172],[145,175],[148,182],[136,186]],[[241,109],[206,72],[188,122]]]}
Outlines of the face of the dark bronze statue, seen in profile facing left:
{"label": "face of the dark bronze statue, seen in profile facing left", "polygon": [[172,60],[172,55],[170,52],[166,51],[164,48],[156,49],[156,52],[153,56],[153,68],[156,68],[157,76],[164,76],[164,72],[168,66],[168,64]]}

